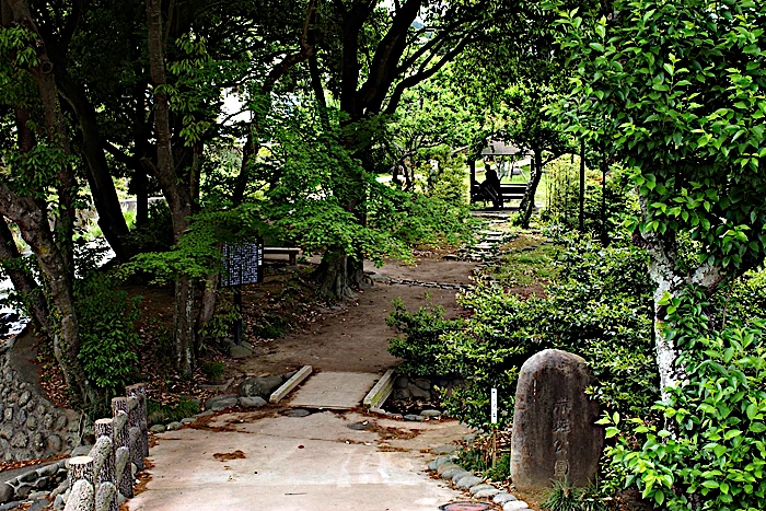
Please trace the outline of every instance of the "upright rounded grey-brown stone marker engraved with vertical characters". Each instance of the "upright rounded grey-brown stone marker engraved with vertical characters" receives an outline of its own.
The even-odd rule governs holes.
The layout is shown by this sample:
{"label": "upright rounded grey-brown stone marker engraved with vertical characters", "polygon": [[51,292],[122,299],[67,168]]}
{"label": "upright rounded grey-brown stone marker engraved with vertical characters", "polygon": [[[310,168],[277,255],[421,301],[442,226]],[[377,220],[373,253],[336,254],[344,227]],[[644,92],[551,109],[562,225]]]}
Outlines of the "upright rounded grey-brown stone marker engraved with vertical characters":
{"label": "upright rounded grey-brown stone marker engraved with vertical characters", "polygon": [[604,431],[599,405],[585,395],[593,381],[577,355],[546,349],[521,368],[517,386],[511,477],[519,488],[548,488],[565,477],[587,486],[595,476]]}

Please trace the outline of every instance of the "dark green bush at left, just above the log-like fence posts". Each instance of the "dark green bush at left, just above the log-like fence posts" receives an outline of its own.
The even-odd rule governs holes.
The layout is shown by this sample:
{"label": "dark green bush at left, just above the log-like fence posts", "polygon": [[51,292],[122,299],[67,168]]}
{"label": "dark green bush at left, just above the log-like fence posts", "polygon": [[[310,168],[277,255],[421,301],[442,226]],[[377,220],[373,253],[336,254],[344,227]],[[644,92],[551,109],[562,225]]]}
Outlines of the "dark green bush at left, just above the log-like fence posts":
{"label": "dark green bush at left, just above the log-like fence posts", "polygon": [[86,378],[108,400],[136,372],[140,342],[136,322],[140,297],[128,298],[112,277],[91,272],[74,284],[80,326],[80,362]]}

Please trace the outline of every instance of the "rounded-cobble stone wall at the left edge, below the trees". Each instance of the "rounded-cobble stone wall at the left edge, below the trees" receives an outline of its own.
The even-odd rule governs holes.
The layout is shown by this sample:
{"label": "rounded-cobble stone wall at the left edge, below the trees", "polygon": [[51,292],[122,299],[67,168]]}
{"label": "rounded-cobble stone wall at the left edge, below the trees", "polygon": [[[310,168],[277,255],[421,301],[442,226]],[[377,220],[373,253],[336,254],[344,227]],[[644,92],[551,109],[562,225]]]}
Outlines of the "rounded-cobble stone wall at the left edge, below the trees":
{"label": "rounded-cobble stone wall at the left edge, below the trees", "polygon": [[[79,444],[79,418],[42,396],[36,371],[20,368],[18,337],[0,345],[0,461],[57,456]],[[34,365],[36,368],[36,365]]]}

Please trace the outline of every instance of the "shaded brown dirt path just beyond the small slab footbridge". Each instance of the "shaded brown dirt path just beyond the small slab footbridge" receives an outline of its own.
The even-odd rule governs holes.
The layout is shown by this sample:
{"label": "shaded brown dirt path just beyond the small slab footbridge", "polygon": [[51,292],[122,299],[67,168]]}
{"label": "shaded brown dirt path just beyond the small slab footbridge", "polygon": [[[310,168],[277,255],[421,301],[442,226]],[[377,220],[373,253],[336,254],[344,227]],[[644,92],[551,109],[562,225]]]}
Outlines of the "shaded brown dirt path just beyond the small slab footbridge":
{"label": "shaded brown dirt path just beyond the small slab footbridge", "polygon": [[[423,258],[417,266],[369,265],[365,270],[375,271],[376,278],[468,284],[475,266],[475,263]],[[444,307],[449,317],[459,314],[455,290],[376,283],[361,291],[356,302],[323,310],[322,316],[309,327],[256,346],[254,356],[235,362],[228,376],[239,380],[244,375],[281,374],[305,364],[320,371],[384,371],[398,363],[386,351],[388,339],[396,335],[385,324],[392,301],[401,298],[414,310],[428,303],[426,295],[430,297],[430,303]]]}

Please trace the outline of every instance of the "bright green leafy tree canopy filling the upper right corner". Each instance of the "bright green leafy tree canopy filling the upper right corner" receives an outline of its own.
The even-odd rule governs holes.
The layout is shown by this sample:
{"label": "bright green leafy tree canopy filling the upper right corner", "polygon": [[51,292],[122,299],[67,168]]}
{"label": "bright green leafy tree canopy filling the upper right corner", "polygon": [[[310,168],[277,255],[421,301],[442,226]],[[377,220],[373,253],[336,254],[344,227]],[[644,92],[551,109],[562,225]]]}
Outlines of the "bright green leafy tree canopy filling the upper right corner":
{"label": "bright green leafy tree canopy filling the upper right corner", "polygon": [[766,253],[763,2],[617,2],[613,22],[562,11],[578,62],[561,105],[634,170],[645,237],[686,233],[701,262],[741,272]]}

